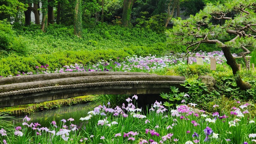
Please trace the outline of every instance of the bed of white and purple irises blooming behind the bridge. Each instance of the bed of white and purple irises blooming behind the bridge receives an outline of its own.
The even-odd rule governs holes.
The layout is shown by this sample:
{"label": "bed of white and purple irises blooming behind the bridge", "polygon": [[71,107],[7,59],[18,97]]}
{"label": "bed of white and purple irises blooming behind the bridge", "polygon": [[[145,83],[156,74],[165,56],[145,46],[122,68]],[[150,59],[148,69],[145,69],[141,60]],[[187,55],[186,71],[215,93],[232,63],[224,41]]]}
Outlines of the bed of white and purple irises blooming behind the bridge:
{"label": "bed of white and purple irises blooming behind the bridge", "polygon": [[[224,53],[214,51],[214,52],[197,52],[191,57],[189,57],[189,64],[196,63],[196,56],[218,56],[218,57],[224,57]],[[233,56],[236,56],[233,54]],[[119,58],[117,58],[119,59]],[[204,63],[210,63],[210,58],[203,58]],[[217,58],[216,62],[218,64],[223,64],[226,62],[225,58]],[[41,65],[36,66],[35,72],[18,72],[16,76],[21,75],[33,75],[33,74],[41,74],[41,73],[57,73],[57,72],[77,72],[77,71],[130,71],[130,72],[150,72],[152,70],[162,69],[165,67],[174,66],[177,64],[184,65],[186,62],[183,58],[177,58],[175,55],[170,56],[163,56],[157,58],[155,55],[153,56],[147,56],[145,58],[138,57],[134,55],[134,57],[126,57],[124,60],[120,61],[105,61],[101,60],[96,64],[75,64],[70,66],[63,66],[63,68],[55,68],[55,71],[50,71],[48,69],[49,65]],[[12,76],[12,75],[10,75]],[[2,77],[2,76],[0,76]]]}

